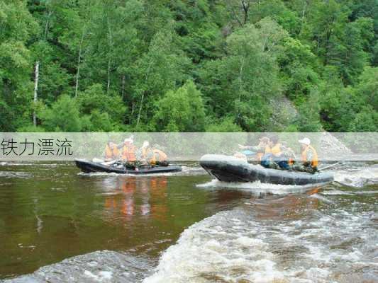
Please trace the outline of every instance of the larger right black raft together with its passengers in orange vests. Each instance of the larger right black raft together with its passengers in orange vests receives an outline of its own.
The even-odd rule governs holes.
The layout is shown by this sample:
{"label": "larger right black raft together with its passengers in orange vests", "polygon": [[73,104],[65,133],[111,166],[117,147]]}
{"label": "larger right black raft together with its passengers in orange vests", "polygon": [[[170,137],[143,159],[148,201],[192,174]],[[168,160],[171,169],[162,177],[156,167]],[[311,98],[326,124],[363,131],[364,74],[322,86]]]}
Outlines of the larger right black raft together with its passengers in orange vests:
{"label": "larger right black raft together with its passengers in orange vests", "polygon": [[[223,182],[255,182],[277,185],[309,185],[328,183],[333,174],[318,169],[318,154],[305,137],[299,140],[301,158],[276,136],[261,137],[257,146],[243,146],[233,156],[206,154],[200,165],[213,178]],[[335,164],[333,164],[335,165]],[[332,166],[333,166],[332,165]]]}

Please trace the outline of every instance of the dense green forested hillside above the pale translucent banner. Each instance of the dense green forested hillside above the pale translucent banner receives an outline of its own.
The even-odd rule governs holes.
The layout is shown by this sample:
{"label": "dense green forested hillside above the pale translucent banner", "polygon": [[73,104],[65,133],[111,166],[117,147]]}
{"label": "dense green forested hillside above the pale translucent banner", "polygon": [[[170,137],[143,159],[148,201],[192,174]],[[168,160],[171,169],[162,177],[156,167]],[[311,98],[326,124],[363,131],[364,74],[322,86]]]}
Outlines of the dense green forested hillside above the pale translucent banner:
{"label": "dense green forested hillside above the pale translucent banner", "polygon": [[378,132],[377,0],[0,0],[0,132]]}

